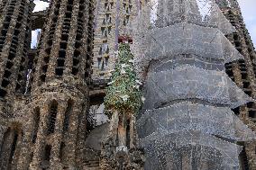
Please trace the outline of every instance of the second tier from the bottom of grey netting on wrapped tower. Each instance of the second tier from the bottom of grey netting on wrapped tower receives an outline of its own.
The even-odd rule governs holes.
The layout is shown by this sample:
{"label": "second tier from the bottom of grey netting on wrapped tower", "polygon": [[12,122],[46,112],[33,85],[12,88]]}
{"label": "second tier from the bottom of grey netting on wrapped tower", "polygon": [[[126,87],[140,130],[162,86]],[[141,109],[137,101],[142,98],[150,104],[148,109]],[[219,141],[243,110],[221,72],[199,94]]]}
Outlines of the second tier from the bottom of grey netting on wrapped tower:
{"label": "second tier from the bottom of grey netting on wrapped tower", "polygon": [[156,133],[179,133],[197,130],[237,141],[256,139],[255,134],[229,107],[216,107],[192,102],[172,104],[149,110],[137,121],[139,137]]}

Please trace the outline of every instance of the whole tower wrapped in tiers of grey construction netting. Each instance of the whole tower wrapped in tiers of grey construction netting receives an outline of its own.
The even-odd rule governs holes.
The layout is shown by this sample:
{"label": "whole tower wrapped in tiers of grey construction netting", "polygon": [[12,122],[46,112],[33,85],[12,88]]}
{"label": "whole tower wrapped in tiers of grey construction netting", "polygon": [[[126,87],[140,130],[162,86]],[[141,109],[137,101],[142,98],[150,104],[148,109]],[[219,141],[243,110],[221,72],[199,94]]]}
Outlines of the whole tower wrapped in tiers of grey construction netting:
{"label": "whole tower wrapped in tiers of grey construction netting", "polygon": [[212,0],[151,0],[142,9],[133,49],[146,75],[137,121],[146,170],[239,169],[236,143],[255,134],[232,111],[254,101],[224,70],[243,58],[224,36],[235,31]]}

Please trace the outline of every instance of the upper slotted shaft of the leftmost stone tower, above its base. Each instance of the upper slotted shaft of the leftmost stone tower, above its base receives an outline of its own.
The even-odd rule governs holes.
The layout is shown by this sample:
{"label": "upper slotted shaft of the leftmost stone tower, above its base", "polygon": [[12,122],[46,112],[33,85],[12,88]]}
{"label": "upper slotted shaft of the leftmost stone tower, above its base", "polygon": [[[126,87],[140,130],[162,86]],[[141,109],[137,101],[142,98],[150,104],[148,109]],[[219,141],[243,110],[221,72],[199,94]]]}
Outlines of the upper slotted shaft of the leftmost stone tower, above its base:
{"label": "upper slotted shaft of the leftmost stone tower, above its base", "polygon": [[32,7],[29,0],[5,0],[0,6],[1,101],[24,90]]}

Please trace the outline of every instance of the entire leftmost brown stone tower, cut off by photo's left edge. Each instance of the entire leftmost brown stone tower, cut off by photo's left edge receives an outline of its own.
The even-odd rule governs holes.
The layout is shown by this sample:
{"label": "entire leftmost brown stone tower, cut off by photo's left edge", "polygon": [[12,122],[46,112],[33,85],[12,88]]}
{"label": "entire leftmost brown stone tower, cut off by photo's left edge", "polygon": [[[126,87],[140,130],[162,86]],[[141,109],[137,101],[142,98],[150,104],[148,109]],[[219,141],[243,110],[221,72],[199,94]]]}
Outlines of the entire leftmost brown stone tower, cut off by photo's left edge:
{"label": "entire leftmost brown stone tower, cut off by photo's left edge", "polygon": [[22,94],[33,4],[30,0],[0,2],[0,169],[13,169],[22,131],[15,121],[15,94]]}

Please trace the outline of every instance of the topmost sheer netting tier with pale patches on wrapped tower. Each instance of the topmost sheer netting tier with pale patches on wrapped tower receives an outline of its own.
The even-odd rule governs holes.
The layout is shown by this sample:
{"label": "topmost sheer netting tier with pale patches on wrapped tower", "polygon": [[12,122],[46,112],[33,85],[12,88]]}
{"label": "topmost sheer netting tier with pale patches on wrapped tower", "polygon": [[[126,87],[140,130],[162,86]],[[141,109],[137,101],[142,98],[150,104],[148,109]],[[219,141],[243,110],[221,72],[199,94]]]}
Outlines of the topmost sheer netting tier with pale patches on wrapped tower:
{"label": "topmost sheer netting tier with pale patches on wrapped tower", "polygon": [[188,22],[220,31],[235,31],[212,0],[150,0],[144,13],[150,16],[151,27],[163,28],[177,22]]}

